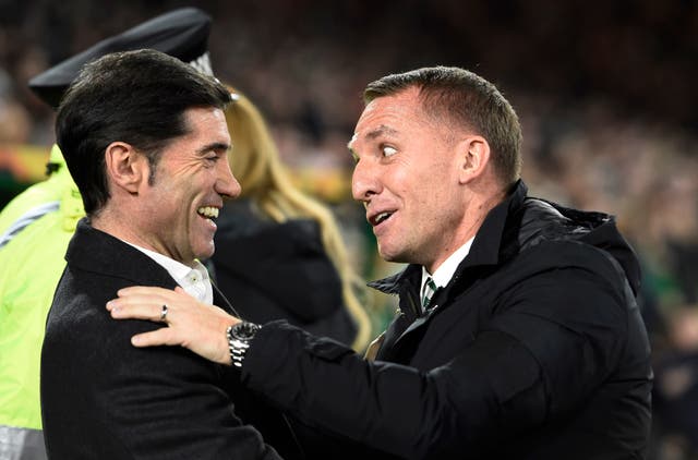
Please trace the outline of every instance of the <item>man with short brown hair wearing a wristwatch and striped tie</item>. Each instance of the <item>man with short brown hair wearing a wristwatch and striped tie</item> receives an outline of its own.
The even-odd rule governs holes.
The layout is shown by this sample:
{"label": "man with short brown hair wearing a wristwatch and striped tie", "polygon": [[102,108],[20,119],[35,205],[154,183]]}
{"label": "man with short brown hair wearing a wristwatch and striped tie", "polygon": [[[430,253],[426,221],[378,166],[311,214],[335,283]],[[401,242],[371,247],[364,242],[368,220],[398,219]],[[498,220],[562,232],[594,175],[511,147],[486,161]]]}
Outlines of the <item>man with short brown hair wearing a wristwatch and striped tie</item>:
{"label": "man with short brown hair wearing a wristwatch and striped tie", "polygon": [[399,295],[374,360],[144,287],[107,304],[152,320],[168,304],[169,327],[133,343],[241,367],[245,387],[345,441],[325,458],[643,458],[650,350],[614,218],[528,196],[518,118],[472,72],[388,75],[365,102],[353,197],[381,256],[410,264],[373,283]]}

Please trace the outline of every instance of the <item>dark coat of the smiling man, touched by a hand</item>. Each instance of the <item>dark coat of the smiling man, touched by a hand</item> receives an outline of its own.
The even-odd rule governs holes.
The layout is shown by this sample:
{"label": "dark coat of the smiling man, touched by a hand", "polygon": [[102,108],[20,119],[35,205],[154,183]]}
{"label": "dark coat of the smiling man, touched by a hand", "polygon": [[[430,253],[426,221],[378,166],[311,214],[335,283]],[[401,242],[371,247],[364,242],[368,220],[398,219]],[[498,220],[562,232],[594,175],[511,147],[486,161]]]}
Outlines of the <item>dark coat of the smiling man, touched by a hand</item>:
{"label": "dark coat of the smiling man, touched by a hand", "polygon": [[[233,412],[233,367],[180,347],[137,349],[133,335],[163,325],[109,316],[105,305],[121,288],[173,289],[167,270],[84,219],[65,259],[41,350],[51,459],[279,458]],[[227,303],[218,292],[215,302]]]}

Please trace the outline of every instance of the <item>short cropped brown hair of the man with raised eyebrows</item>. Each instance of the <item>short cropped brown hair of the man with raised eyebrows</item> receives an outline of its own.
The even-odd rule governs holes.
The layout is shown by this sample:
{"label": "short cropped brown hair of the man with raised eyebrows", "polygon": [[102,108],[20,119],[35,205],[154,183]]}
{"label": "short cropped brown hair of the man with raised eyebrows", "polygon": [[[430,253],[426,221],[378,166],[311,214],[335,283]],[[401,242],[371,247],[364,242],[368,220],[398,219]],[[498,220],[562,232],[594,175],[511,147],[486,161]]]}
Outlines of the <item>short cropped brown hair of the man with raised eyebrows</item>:
{"label": "short cropped brown hair of the man with raised eyebrows", "polygon": [[424,111],[447,117],[482,135],[492,149],[494,170],[508,186],[521,171],[521,126],[512,105],[483,77],[460,68],[422,68],[369,83],[365,104],[417,86]]}

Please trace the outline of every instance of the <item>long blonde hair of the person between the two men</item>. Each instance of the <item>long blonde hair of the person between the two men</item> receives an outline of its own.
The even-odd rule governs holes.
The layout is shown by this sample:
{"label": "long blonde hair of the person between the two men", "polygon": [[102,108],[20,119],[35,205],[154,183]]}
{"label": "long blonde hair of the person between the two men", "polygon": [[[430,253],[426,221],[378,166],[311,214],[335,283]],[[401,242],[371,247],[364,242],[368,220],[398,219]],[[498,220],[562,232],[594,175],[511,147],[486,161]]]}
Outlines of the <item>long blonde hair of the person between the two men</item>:
{"label": "long blonde hair of the person between the two men", "polygon": [[242,186],[241,196],[251,199],[277,222],[292,218],[317,221],[323,246],[339,274],[344,302],[357,325],[351,347],[358,351],[365,349],[371,338],[371,320],[358,298],[358,293],[366,298],[365,286],[349,264],[334,215],[293,185],[264,117],[250,99],[230,89],[234,95],[234,101],[226,109],[232,138],[230,165]]}

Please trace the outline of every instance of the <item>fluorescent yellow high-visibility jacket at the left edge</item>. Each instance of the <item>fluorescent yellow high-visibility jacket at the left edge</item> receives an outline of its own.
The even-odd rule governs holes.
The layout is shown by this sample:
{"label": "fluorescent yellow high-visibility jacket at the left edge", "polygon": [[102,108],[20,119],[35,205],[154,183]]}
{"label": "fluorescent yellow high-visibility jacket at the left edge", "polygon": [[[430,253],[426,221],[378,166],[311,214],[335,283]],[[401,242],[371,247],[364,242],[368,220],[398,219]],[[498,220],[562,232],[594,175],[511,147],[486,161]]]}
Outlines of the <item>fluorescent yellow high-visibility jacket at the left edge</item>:
{"label": "fluorescent yellow high-visibility jacket at the left edge", "polygon": [[[0,458],[45,458],[39,358],[46,315],[65,266],[82,198],[57,146],[59,169],[0,213]],[[25,456],[25,457],[22,457]]]}

